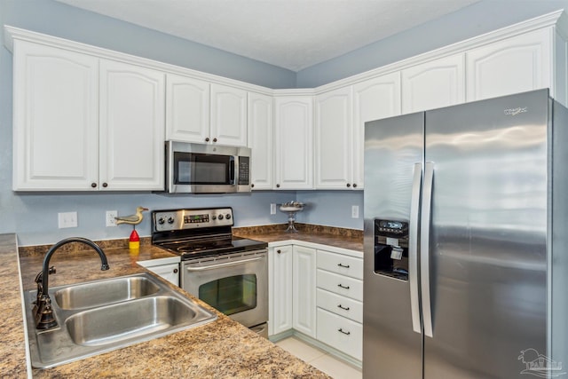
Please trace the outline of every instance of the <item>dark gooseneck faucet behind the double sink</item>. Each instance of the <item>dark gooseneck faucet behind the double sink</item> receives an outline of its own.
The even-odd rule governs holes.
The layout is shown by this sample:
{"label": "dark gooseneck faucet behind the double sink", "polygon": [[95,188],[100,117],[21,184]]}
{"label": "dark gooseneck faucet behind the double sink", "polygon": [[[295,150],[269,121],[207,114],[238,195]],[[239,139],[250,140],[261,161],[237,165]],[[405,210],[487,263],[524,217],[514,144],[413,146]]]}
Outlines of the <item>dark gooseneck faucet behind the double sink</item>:
{"label": "dark gooseneck faucet behind the double sink", "polygon": [[49,291],[49,278],[50,273],[55,273],[55,267],[50,267],[50,259],[53,253],[57,251],[61,246],[67,245],[71,242],[80,242],[85,245],[91,246],[92,249],[99,254],[100,257],[100,269],[105,271],[109,269],[108,262],[106,261],[106,255],[103,249],[100,249],[99,245],[91,240],[81,237],[72,237],[65,240],[57,242],[55,245],[51,246],[45,257],[43,258],[43,268],[36,276],[37,283],[37,299],[36,305],[34,306],[33,313],[36,316],[36,328],[37,329],[51,329],[57,327],[57,320],[53,317],[53,309],[51,308],[51,299],[48,294]]}

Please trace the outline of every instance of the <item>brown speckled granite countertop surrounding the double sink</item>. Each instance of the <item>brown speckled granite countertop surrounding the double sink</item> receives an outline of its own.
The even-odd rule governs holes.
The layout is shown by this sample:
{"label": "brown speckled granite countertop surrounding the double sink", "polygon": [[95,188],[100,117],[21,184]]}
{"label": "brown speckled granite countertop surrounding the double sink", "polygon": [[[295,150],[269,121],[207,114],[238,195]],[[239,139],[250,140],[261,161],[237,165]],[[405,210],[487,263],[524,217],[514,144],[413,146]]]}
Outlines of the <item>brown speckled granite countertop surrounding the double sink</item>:
{"label": "brown speckled granite countertop surrounding the double sink", "polygon": [[[289,238],[288,238],[289,239]],[[75,244],[66,245],[64,248]],[[62,248],[51,258],[57,273],[50,276],[50,285],[59,286],[85,280],[144,272],[138,261],[172,257],[162,249],[142,244],[138,254],[126,248],[105,249],[110,270],[102,272],[99,256],[94,251]],[[20,270],[23,289],[35,288],[34,278],[41,271],[44,249],[20,249]],[[26,343],[21,311],[18,249],[14,234],[0,235],[0,278],[4,304],[2,343],[0,343],[0,376],[26,377]],[[185,296],[192,297],[218,319],[207,325],[174,333],[170,336],[137,343],[116,351],[78,360],[49,369],[32,369],[34,377],[232,377],[232,378],[313,378],[328,376],[297,359],[287,351],[257,336],[254,332],[213,310],[170,285]]]}

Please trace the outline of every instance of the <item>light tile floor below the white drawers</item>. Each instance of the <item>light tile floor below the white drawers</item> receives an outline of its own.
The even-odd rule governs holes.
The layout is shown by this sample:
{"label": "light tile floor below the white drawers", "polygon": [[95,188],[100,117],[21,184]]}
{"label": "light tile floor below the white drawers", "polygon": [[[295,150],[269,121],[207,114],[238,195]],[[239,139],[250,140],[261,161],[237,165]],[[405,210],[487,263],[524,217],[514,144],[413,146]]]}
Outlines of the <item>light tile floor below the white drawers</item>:
{"label": "light tile floor below the white drawers", "polygon": [[359,369],[295,337],[288,337],[276,344],[334,379],[360,379],[363,376]]}

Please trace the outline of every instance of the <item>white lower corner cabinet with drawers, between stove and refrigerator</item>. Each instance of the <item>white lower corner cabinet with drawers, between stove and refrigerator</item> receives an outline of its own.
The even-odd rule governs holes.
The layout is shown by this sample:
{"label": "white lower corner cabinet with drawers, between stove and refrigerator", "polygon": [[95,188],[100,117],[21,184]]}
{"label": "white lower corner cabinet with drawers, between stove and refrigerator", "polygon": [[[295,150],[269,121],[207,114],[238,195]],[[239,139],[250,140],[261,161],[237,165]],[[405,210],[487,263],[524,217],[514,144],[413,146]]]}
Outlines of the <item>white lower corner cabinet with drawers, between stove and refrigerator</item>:
{"label": "white lower corner cabinet with drawers, between stove and refrigerator", "polygon": [[343,252],[297,243],[268,249],[269,336],[298,332],[362,359],[363,257]]}

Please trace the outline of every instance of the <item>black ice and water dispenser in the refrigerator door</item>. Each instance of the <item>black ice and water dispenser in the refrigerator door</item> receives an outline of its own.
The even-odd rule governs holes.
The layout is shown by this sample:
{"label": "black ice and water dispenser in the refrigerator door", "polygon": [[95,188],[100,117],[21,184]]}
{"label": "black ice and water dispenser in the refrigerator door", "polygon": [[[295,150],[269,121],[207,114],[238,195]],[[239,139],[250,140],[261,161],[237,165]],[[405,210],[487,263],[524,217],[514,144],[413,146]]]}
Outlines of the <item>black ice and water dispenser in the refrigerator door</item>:
{"label": "black ice and water dispenser in the refrigerator door", "polygon": [[408,223],[375,219],[375,272],[408,280]]}

